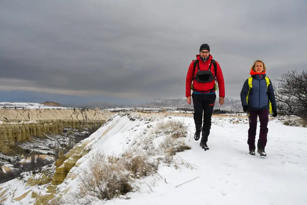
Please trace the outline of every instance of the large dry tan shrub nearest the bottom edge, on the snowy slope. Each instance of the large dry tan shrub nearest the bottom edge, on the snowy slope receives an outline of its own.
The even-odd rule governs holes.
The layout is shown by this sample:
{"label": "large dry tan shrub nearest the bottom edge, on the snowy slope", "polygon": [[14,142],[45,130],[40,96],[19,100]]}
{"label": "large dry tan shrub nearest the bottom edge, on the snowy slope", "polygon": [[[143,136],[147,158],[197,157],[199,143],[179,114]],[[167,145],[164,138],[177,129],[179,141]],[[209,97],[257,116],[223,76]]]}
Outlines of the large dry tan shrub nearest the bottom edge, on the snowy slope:
{"label": "large dry tan shrub nearest the bottom edge, on the snowy slope", "polygon": [[94,196],[101,200],[110,200],[132,191],[130,173],[126,171],[122,161],[111,156],[97,153],[89,160],[88,170],[80,176],[80,198]]}

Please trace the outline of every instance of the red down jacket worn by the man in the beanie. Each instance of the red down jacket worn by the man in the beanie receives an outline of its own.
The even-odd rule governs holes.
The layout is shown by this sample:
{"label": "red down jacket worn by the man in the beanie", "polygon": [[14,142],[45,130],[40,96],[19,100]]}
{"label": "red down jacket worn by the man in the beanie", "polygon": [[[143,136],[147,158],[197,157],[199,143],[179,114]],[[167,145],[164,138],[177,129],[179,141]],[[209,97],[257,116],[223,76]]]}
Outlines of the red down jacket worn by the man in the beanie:
{"label": "red down jacket worn by the man in the beanie", "polygon": [[[211,60],[213,59],[212,55],[209,54],[209,58],[207,61],[202,61],[200,58],[200,54],[196,55],[196,59],[199,61],[199,69],[200,70],[209,70],[209,65],[211,63]],[[198,71],[197,65],[195,68],[194,76],[193,75],[193,64],[194,61],[191,62],[189,68],[188,68],[188,73],[187,77],[185,79],[185,97],[190,97],[191,96],[191,85],[193,81],[193,87],[196,90],[209,90],[212,89],[215,85],[215,80],[208,82],[208,83],[199,83],[196,80],[193,80],[193,77],[196,76],[196,73]],[[216,61],[216,73],[214,72],[214,66],[211,65],[211,72],[213,74],[213,77],[216,76],[217,84],[218,84],[218,89],[219,89],[219,96],[220,97],[225,97],[225,85],[224,85],[224,78],[223,78],[223,73],[222,69],[220,67],[220,64]],[[208,91],[206,93],[209,93],[211,91]],[[212,91],[214,92],[214,91]]]}

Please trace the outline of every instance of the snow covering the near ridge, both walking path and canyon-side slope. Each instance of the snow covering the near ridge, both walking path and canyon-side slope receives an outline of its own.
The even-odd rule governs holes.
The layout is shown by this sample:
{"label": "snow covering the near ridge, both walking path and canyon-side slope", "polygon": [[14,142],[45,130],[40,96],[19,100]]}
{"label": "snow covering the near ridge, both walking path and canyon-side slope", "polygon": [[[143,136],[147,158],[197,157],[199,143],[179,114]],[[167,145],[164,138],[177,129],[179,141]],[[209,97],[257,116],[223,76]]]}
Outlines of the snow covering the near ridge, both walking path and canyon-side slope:
{"label": "snow covering the near ridge, both walking path and canyon-side slope", "polygon": [[[268,124],[268,143],[266,157],[248,154],[248,121],[240,116],[217,116],[212,118],[212,128],[208,140],[209,150],[200,148],[195,141],[193,117],[144,114],[115,114],[83,142],[90,152],[80,158],[68,175],[78,174],[76,178],[67,178],[58,185],[64,198],[78,191],[80,173],[89,167],[89,159],[97,153],[106,156],[120,156],[128,148],[155,154],[151,157],[162,160],[158,165],[158,174],[135,179],[138,187],[134,192],[107,201],[91,204],[235,204],[235,205],[305,205],[307,195],[307,128],[289,127],[278,119]],[[147,116],[147,117],[146,117]],[[171,163],[163,159],[159,144],[168,136],[166,132],[157,132],[159,123],[176,120],[187,126],[187,136],[182,139],[191,149],[177,152]],[[167,129],[167,128],[166,128]],[[259,133],[259,124],[257,135]],[[257,143],[257,141],[256,141]],[[161,146],[160,146],[161,148]],[[160,150],[160,151],[159,151]],[[22,188],[23,187],[23,188]],[[12,195],[4,204],[33,204],[31,191],[44,193],[46,185],[25,187],[25,183],[14,179],[0,184],[0,196],[3,190],[14,192],[14,198],[28,192],[25,198],[14,201]],[[16,190],[16,191],[15,191]],[[126,197],[130,199],[126,199]]]}

